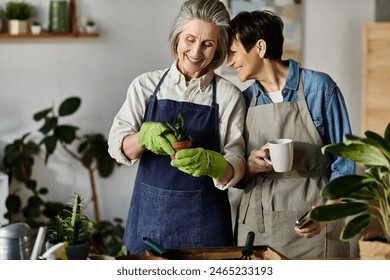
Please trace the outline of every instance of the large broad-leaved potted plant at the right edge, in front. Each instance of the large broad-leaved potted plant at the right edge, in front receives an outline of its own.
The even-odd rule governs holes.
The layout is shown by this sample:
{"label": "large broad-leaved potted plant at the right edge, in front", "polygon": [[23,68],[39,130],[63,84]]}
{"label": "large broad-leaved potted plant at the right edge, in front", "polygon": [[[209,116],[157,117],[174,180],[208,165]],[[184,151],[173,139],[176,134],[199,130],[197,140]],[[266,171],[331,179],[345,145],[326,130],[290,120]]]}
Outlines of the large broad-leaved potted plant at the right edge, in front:
{"label": "large broad-leaved potted plant at the right edge, in front", "polygon": [[326,145],[322,149],[363,164],[365,171],[362,175],[341,176],[325,185],[321,195],[326,199],[341,199],[341,203],[318,206],[310,211],[309,218],[333,221],[351,217],[341,233],[341,240],[360,235],[375,220],[381,232],[369,233],[376,239],[370,245],[379,245],[381,251],[387,246],[389,253],[387,257],[369,257],[365,251],[362,252],[367,243],[361,238],[360,256],[390,258],[390,123],[383,137],[366,131],[364,137],[347,135],[344,143]]}

